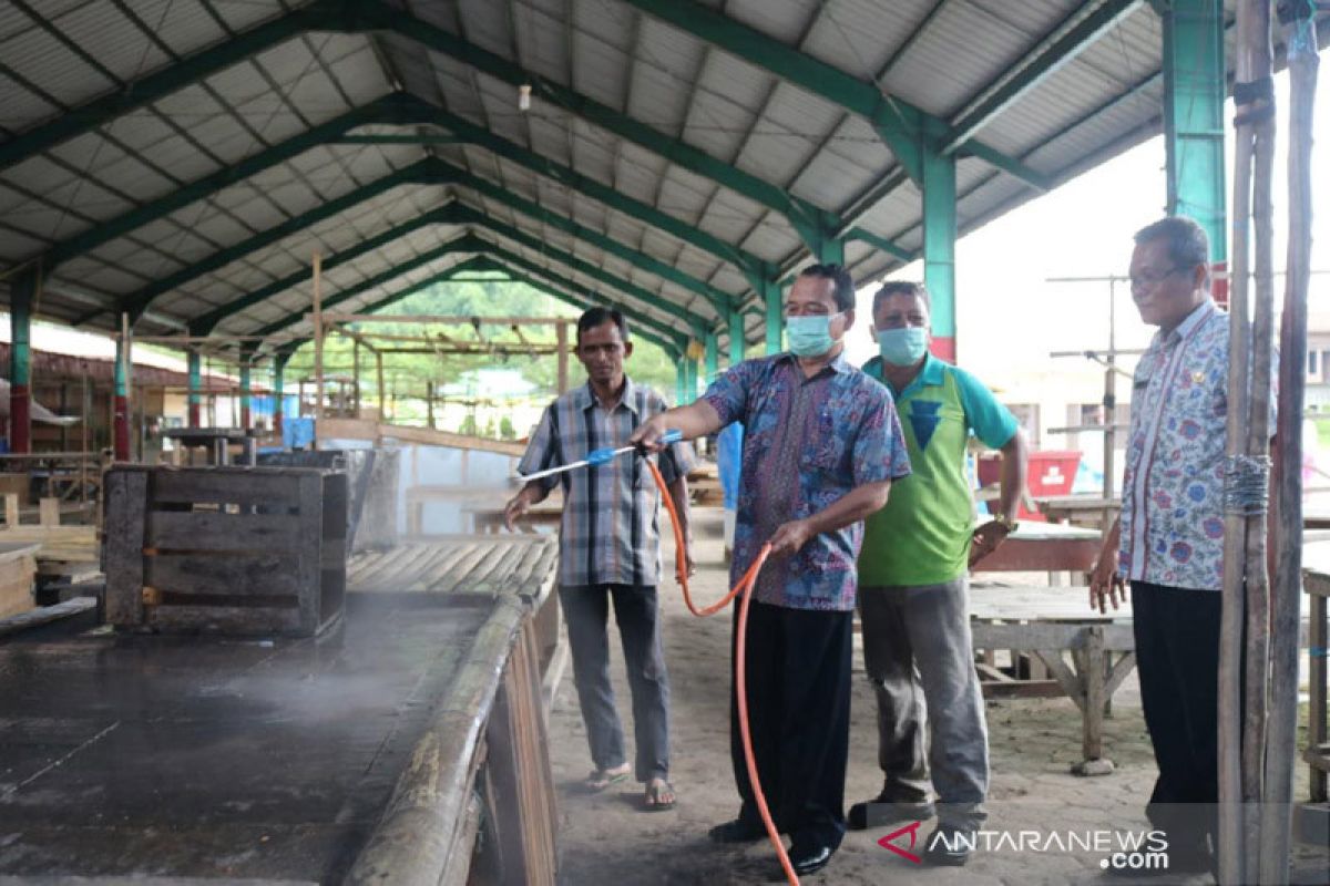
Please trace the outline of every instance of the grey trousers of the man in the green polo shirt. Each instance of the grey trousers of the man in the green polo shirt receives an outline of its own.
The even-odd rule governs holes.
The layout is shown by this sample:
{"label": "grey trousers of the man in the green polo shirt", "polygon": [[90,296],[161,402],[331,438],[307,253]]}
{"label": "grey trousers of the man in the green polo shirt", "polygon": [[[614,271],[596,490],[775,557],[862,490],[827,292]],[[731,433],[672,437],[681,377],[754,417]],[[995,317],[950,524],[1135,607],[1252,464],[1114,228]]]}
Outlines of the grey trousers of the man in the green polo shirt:
{"label": "grey trousers of the man in the green polo shirt", "polygon": [[[968,579],[920,587],[861,587],[863,663],[878,696],[882,797],[938,792],[938,817],[984,820],[988,727],[966,614]],[[932,777],[930,778],[930,765]]]}

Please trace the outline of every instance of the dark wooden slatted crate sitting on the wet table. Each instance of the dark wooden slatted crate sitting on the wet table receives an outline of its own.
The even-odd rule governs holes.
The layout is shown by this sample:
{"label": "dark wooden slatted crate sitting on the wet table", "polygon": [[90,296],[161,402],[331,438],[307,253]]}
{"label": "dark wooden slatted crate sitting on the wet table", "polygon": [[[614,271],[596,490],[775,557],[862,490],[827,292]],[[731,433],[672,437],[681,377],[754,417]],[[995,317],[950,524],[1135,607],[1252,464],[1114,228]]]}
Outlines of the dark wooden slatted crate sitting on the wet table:
{"label": "dark wooden slatted crate sitting on the wet table", "polygon": [[109,623],[310,636],[340,616],[344,473],[125,465],[105,490]]}

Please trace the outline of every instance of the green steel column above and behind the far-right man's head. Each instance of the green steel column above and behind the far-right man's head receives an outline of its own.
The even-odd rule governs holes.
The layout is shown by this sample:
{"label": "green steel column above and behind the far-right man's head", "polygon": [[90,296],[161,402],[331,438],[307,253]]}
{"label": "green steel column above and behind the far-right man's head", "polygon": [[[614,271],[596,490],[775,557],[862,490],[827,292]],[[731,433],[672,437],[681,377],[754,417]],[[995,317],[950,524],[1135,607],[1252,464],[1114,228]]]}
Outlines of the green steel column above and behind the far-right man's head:
{"label": "green steel column above and behind the far-right man's head", "polygon": [[1224,159],[1224,3],[1156,0],[1164,21],[1164,153],[1168,213],[1194,218],[1210,259],[1228,262]]}

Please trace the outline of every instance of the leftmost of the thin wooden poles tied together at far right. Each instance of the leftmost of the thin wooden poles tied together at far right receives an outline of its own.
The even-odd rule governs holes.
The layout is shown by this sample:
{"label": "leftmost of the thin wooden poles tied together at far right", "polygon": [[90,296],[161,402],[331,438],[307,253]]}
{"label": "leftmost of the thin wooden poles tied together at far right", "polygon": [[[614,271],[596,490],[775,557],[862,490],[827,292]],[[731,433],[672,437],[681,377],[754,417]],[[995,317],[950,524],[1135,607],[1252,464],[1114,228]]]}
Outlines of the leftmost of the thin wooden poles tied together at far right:
{"label": "leftmost of the thin wooden poles tied together at far right", "polygon": [[[1234,62],[1238,84],[1249,84],[1254,77],[1256,56],[1252,48],[1254,17],[1260,16],[1260,0],[1244,0],[1237,8],[1237,58]],[[1225,425],[1225,457],[1232,465],[1246,454],[1244,434],[1248,416],[1248,283],[1250,274],[1250,242],[1248,219],[1252,215],[1252,157],[1254,139],[1250,114],[1258,102],[1237,104],[1234,121],[1233,158],[1233,251],[1230,254],[1232,279],[1229,284],[1229,383],[1228,417]],[[1220,673],[1218,673],[1218,833],[1216,850],[1220,862],[1220,883],[1237,883],[1242,877],[1242,614],[1246,573],[1246,519],[1225,502],[1224,513],[1224,596],[1220,620]]]}

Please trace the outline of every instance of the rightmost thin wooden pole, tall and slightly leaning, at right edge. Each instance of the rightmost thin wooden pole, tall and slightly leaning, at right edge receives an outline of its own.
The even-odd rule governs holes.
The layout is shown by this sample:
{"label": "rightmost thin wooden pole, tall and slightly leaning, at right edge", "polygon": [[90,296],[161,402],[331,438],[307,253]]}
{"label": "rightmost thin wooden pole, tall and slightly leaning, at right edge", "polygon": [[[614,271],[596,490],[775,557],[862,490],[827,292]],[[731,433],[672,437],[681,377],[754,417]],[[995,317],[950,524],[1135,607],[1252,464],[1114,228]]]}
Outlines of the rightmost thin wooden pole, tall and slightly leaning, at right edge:
{"label": "rightmost thin wooden pole, tall and slightly leaning, at right edge", "polygon": [[1270,720],[1261,805],[1260,882],[1289,882],[1293,766],[1298,721],[1298,612],[1302,594],[1302,408],[1311,270],[1311,141],[1317,35],[1311,9],[1285,23],[1289,64],[1289,251],[1279,337],[1275,441],[1275,574],[1270,618]]}

